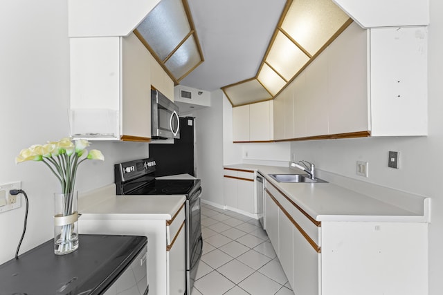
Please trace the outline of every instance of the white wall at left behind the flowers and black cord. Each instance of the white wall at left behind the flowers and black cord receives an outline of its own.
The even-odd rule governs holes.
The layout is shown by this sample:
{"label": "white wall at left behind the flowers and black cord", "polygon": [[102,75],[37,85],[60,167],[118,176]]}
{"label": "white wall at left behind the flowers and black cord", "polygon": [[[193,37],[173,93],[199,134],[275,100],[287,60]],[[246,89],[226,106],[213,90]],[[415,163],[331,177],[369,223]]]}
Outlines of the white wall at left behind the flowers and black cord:
{"label": "white wall at left behind the flowers and black cord", "polygon": [[[69,136],[69,40],[66,1],[0,1],[0,184],[19,180],[29,197],[28,228],[20,254],[53,238],[55,177],[39,162],[15,164],[32,144]],[[100,142],[105,162],[84,162],[76,188],[114,182],[116,162],[147,156],[147,144]],[[0,264],[15,255],[24,223],[21,208],[0,213]]]}

